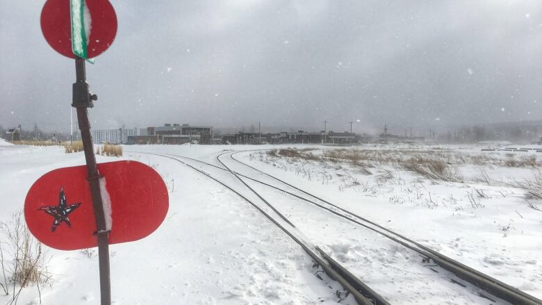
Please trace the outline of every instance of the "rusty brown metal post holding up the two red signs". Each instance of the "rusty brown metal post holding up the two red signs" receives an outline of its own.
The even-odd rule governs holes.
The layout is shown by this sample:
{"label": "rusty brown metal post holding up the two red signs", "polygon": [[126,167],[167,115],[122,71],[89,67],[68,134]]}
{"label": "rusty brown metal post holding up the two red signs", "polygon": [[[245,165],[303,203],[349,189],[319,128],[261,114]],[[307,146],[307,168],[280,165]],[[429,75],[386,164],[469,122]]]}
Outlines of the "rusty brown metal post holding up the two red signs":
{"label": "rusty brown metal post holding up the two red signs", "polygon": [[104,205],[101,200],[101,191],[99,185],[100,174],[96,165],[94,148],[92,147],[92,137],[90,136],[90,122],[88,120],[87,108],[92,108],[92,101],[98,97],[90,94],[88,83],[86,83],[85,60],[80,57],[75,58],[76,83],[73,85],[72,107],[77,110],[77,120],[79,121],[79,130],[81,131],[81,140],[83,141],[83,151],[85,151],[85,160],[87,163],[87,180],[92,195],[92,206],[96,219],[97,231],[95,235],[98,238],[98,257],[100,273],[100,291],[101,305],[111,304],[111,283],[109,275],[109,242],[110,231],[106,228],[106,218],[104,215]]}

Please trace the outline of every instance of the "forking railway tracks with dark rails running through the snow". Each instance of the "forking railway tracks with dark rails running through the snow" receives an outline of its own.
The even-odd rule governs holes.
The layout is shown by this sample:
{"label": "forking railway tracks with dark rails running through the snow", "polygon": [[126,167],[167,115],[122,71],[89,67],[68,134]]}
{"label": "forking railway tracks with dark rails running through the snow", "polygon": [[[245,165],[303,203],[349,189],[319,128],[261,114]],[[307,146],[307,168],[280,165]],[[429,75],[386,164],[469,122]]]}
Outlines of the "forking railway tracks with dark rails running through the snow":
{"label": "forking railway tracks with dark rails running through the snow", "polygon": [[[389,240],[393,240],[394,242],[397,242],[399,243],[400,245],[404,246],[404,247],[407,247],[408,249],[411,249],[413,250],[414,252],[417,252],[418,254],[420,254],[420,256],[422,256],[424,259],[423,261],[425,263],[429,263],[429,261],[432,261],[433,263],[435,263],[436,265],[438,265],[438,267],[441,267],[443,270],[447,270],[447,272],[450,272],[451,274],[454,274],[455,277],[459,278],[459,279],[450,279],[450,281],[452,281],[452,283],[458,283],[460,286],[464,286],[466,287],[465,283],[462,283],[461,280],[465,281],[466,283],[470,283],[471,285],[479,288],[479,295],[481,297],[484,297],[486,299],[489,299],[491,300],[492,302],[495,302],[496,300],[498,299],[501,299],[501,300],[504,300],[506,302],[509,302],[510,304],[542,304],[541,300],[539,299],[536,299],[535,297],[532,297],[530,295],[527,295],[525,292],[522,292],[516,288],[513,288],[509,285],[507,285],[506,283],[502,283],[500,281],[498,281],[497,279],[493,279],[492,277],[489,277],[488,275],[486,274],[482,274],[481,272],[478,272],[477,270],[474,270],[473,268],[470,268],[466,265],[463,265],[457,261],[454,261],[452,258],[448,258],[447,256],[443,256],[442,254],[439,254],[438,252],[435,252],[434,250],[432,249],[429,249],[428,247],[425,247],[424,245],[421,245],[419,244],[418,242],[415,242],[405,236],[402,236],[401,234],[399,233],[395,233],[394,231],[391,231],[389,229],[386,229],[384,226],[380,226],[379,224],[376,224],[375,222],[371,222],[370,220],[366,220],[365,218],[359,216],[359,215],[356,215],[355,213],[352,213],[350,211],[347,211],[343,208],[340,208],[340,206],[337,206],[336,204],[332,204],[331,202],[325,200],[325,199],[322,199],[316,195],[313,195],[311,194],[310,192],[306,192],[300,188],[297,188],[293,185],[291,185],[290,183],[287,183],[286,181],[282,181],[281,179],[278,179],[277,177],[274,177],[270,174],[267,174],[265,172],[262,172],[261,170],[258,170],[246,163],[243,163],[242,161],[238,160],[237,158],[234,158],[233,155],[235,154],[238,154],[240,151],[228,151],[228,152],[224,152],[222,154],[220,154],[219,156],[217,156],[217,161],[224,167],[219,167],[219,166],[216,166],[216,165],[213,165],[211,163],[205,163],[201,160],[197,160],[195,158],[189,158],[189,157],[185,157],[185,156],[176,156],[176,155],[167,155],[167,154],[156,154],[158,156],[164,156],[164,157],[167,157],[167,158],[173,158],[175,160],[178,160],[179,162],[185,164],[185,165],[188,165],[189,167],[192,167],[192,169],[194,170],[197,170],[198,172],[203,172],[202,170],[198,170],[196,167],[193,167],[192,165],[189,165],[188,163],[186,162],[183,162],[177,158],[183,158],[185,160],[192,160],[192,161],[195,161],[197,163],[201,163],[201,164],[204,164],[204,165],[208,165],[208,166],[211,166],[211,167],[214,167],[216,169],[219,169],[219,170],[224,170],[224,171],[229,171],[231,174],[233,174],[234,176],[237,177],[237,179],[243,183],[243,185],[245,185],[247,188],[249,188],[249,190],[251,190],[252,192],[254,192],[254,194],[256,194],[256,196],[258,196],[259,199],[261,199],[268,207],[270,207],[272,209],[272,211],[274,213],[276,213],[277,215],[279,215],[279,217],[281,217],[281,219],[286,222],[286,224],[289,224],[290,226],[292,226],[293,228],[295,228],[295,225],[290,222],[290,220],[288,220],[288,217],[284,216],[282,213],[280,213],[277,208],[274,208],[274,206],[272,206],[272,204],[270,204],[267,200],[265,200],[264,197],[262,197],[256,190],[254,190],[254,188],[252,188],[251,186],[249,186],[245,181],[243,181],[243,179],[241,179],[241,177],[245,178],[245,179],[249,179],[249,181],[252,181],[254,183],[259,183],[260,185],[262,186],[267,186],[269,188],[272,188],[274,190],[277,190],[278,192],[281,192],[281,193],[284,193],[285,195],[289,195],[291,197],[295,197],[297,199],[301,199],[302,201],[305,201],[306,203],[308,204],[312,204],[313,206],[317,206],[318,208],[321,208],[322,210],[324,211],[327,211],[328,213],[332,213],[338,217],[341,217],[345,220],[348,220],[349,222],[352,222],[356,225],[359,225],[359,226],[363,226],[364,228],[366,229],[369,229],[370,231],[373,231],[375,233],[378,233],[379,235],[381,236],[384,236],[386,238],[388,238]],[[277,187],[276,185],[273,185],[273,183],[266,183],[264,181],[261,181],[261,180],[258,180],[258,179],[254,179],[254,177],[252,176],[249,176],[247,174],[241,174],[240,171],[234,171],[234,170],[231,170],[231,165],[230,167],[228,167],[224,162],[223,160],[220,159],[220,156],[223,156],[223,155],[228,155],[229,158],[231,158],[231,160],[233,160],[235,163],[238,163],[238,165],[241,165],[243,167],[246,167],[247,169],[250,169],[251,171],[254,171],[256,173],[258,173],[259,175],[263,175],[263,176],[266,176],[268,177],[269,179],[272,179],[273,181],[276,181],[278,183],[280,183],[282,186],[286,186],[286,188],[288,188],[289,190],[286,190],[285,188],[281,188],[281,187]],[[206,173],[204,173],[206,174]],[[206,176],[209,176],[208,174],[206,174]],[[209,176],[211,179],[214,179],[213,177]],[[217,179],[214,179],[215,181],[217,181]],[[217,181],[219,183],[221,183],[223,186],[226,186],[224,183],[220,182],[220,181]],[[227,188],[229,188],[228,186],[226,186]],[[233,190],[232,188],[229,188],[230,190]],[[236,190],[233,190],[233,192],[236,192],[237,195],[239,195],[240,197],[243,197],[243,199],[249,201],[249,199],[247,199],[246,197],[244,197],[243,195],[241,195],[239,192],[237,192]],[[297,193],[297,194],[296,194]],[[309,197],[309,198],[307,198]],[[249,201],[253,206],[255,206],[254,202],[252,201]],[[258,208],[256,206],[256,208]],[[270,220],[272,220],[275,224],[279,225],[276,220],[273,220],[272,219],[272,216],[269,215],[269,213],[265,213],[265,211],[261,210],[261,208],[258,208],[259,211],[261,211],[262,213],[264,213],[264,215],[268,218],[270,218]],[[288,229],[285,228],[285,226],[280,226],[281,229],[283,231],[285,231],[290,237],[294,238],[292,235],[290,235],[291,233],[288,233]],[[295,240],[295,238],[294,238]],[[301,240],[296,240],[296,242],[302,242]],[[301,244],[299,244],[301,245]],[[359,281],[359,279],[357,279],[357,277],[355,277],[354,275],[352,275],[351,272],[349,272],[348,270],[346,270],[345,267],[343,267],[342,265],[338,264],[333,258],[331,258],[331,256],[329,256],[329,254],[327,254],[326,252],[324,252],[320,247],[312,247],[310,248],[309,246],[307,245],[302,245],[302,247],[305,249],[305,251],[307,251],[306,248],[309,248],[310,250],[310,253],[309,255],[313,258],[314,256],[318,257],[318,255],[316,253],[320,253],[320,255],[322,256],[323,259],[325,259],[327,261],[327,263],[329,263],[329,266],[331,267],[331,269],[335,272],[335,273],[331,273],[330,274],[330,277],[332,278],[336,278],[337,277],[337,274],[340,278],[342,278],[343,280],[338,280],[341,284],[343,284],[343,282],[346,282],[347,285],[343,285],[343,287],[345,287],[346,290],[348,290],[349,292],[351,292],[350,290],[354,289],[358,292],[361,292],[361,295],[365,298],[365,299],[360,299],[360,297],[356,297],[356,301],[359,302],[359,304],[388,304],[388,302],[386,301],[386,299],[384,299],[383,297],[380,297],[376,292],[374,292],[373,290],[371,290],[370,288],[368,288],[368,286],[366,286],[366,284],[364,283],[361,283],[361,281]],[[321,260],[320,257],[318,257],[318,259]],[[315,259],[315,261],[317,263],[319,263],[319,265],[321,265],[322,261],[318,261],[317,259]],[[323,267],[323,266],[322,266]],[[432,269],[434,270],[434,269]],[[436,270],[434,270],[436,271]],[[438,271],[436,271],[438,272]],[[354,296],[354,292],[351,292]],[[370,303],[365,303],[365,302],[370,302]]]}

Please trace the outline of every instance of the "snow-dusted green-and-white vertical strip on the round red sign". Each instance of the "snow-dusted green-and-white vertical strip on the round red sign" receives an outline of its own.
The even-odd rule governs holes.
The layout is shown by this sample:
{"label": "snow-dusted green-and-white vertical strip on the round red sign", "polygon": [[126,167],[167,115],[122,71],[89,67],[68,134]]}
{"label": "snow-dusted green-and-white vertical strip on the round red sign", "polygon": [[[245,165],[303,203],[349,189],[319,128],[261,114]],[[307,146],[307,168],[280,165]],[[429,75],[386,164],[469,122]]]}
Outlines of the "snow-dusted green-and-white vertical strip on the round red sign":
{"label": "snow-dusted green-and-white vertical strip on the round red sign", "polygon": [[85,31],[85,0],[69,0],[72,20],[72,52],[87,59],[87,35]]}

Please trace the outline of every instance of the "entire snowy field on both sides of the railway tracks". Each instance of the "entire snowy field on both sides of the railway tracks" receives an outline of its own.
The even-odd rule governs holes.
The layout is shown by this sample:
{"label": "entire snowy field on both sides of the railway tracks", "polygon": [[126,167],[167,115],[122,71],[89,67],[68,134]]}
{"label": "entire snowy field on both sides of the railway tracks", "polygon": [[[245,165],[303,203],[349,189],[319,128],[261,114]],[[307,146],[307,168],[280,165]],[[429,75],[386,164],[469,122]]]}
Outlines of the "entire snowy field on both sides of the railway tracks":
{"label": "entire snowy field on both sides of the railway tracks", "polygon": [[[255,148],[270,150],[249,151]],[[124,147],[122,158],[97,156],[98,162],[146,163],[170,190],[170,211],[155,233],[110,247],[113,302],[336,304],[341,298],[340,286],[315,277],[309,256],[247,202],[186,165],[142,154],[189,156],[218,166],[224,149],[247,150],[235,157],[542,298],[542,212],[536,210],[542,201],[536,192],[526,196],[541,184],[542,160],[533,151],[481,148],[147,145]],[[0,222],[22,211],[28,188],[42,174],[83,163],[82,153],[65,154],[60,147],[0,142]],[[242,189],[227,173],[190,164]],[[258,191],[392,304],[490,304],[413,266],[416,254],[261,186]],[[45,255],[51,281],[41,287],[42,304],[99,302],[96,254],[47,249]],[[391,271],[375,272],[383,266]],[[38,302],[35,287],[22,290],[19,304]],[[354,303],[349,297],[340,304]]]}

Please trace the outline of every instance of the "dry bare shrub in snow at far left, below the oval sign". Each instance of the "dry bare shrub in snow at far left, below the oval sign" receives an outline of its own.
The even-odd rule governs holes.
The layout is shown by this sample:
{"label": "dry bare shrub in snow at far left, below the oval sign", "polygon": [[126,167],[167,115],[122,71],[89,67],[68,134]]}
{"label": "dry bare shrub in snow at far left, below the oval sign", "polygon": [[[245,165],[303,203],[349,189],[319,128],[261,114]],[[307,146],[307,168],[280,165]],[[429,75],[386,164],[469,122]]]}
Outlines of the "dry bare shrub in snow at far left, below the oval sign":
{"label": "dry bare shrub in snow at far left, below the oval sign", "polygon": [[[12,299],[8,304],[16,304],[23,288],[36,285],[39,292],[40,285],[51,281],[51,274],[44,263],[42,243],[31,236],[22,212],[15,213],[10,222],[0,224],[0,235],[4,283],[7,286],[8,280],[13,286]],[[19,286],[17,291],[16,286]]]}

